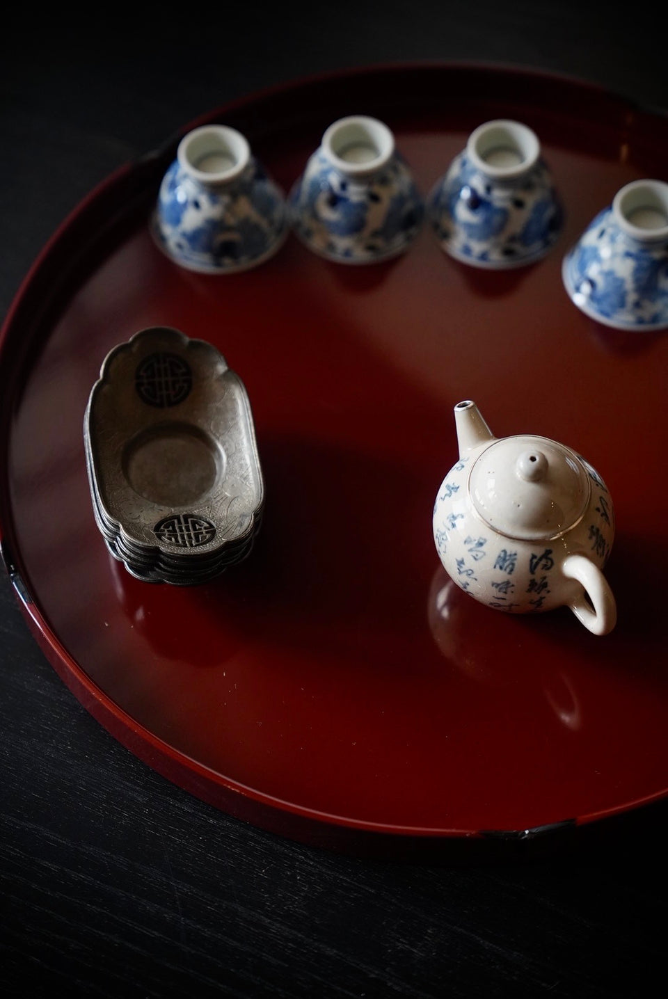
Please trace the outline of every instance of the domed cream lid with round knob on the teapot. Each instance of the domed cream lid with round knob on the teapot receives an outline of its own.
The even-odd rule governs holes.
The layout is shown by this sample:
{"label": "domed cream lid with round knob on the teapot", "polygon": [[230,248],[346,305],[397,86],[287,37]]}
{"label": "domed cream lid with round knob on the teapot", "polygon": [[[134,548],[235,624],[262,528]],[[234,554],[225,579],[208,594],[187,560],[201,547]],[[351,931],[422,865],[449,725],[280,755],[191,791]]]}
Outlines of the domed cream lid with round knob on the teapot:
{"label": "domed cream lid with round knob on the teapot", "polygon": [[580,519],[591,487],[574,452],[548,438],[504,438],[473,464],[469,492],[492,530],[518,539],[554,538]]}

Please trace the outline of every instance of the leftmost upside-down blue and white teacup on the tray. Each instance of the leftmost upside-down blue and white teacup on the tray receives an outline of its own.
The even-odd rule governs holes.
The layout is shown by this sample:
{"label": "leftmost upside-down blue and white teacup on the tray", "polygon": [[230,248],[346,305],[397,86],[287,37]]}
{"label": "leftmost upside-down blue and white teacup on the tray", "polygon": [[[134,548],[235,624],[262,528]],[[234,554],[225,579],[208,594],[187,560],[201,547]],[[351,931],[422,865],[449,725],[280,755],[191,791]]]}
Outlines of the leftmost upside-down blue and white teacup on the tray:
{"label": "leftmost upside-down blue and white teacup on the tray", "polygon": [[226,125],[204,125],[181,140],[151,228],[175,263],[205,274],[257,267],[289,230],[284,193],[245,136]]}

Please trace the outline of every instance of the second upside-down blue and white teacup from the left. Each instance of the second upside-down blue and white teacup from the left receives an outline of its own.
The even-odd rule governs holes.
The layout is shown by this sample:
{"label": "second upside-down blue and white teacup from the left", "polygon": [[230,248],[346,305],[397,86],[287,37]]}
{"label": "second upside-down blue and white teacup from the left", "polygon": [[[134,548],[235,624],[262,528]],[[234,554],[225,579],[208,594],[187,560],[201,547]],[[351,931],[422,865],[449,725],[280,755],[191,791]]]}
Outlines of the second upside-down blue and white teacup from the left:
{"label": "second upside-down blue and white teacup from the left", "polygon": [[372,264],[407,250],[424,215],[412,174],[382,122],[341,118],[325,132],[289,198],[298,238],[343,264]]}

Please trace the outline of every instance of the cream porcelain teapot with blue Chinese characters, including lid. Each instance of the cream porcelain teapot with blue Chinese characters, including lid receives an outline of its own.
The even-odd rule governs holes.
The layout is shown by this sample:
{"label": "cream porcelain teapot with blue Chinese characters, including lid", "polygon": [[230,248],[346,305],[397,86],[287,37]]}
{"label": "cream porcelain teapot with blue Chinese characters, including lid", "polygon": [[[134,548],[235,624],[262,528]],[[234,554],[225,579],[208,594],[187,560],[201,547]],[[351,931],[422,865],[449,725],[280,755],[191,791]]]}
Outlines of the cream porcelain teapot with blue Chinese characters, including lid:
{"label": "cream porcelain teapot with blue Chinese characters, including lid", "polygon": [[565,605],[606,634],[617,618],[601,572],[614,513],[601,477],[547,438],[497,440],[470,400],[457,403],[454,418],[459,461],[433,508],[446,571],[487,606],[533,613]]}

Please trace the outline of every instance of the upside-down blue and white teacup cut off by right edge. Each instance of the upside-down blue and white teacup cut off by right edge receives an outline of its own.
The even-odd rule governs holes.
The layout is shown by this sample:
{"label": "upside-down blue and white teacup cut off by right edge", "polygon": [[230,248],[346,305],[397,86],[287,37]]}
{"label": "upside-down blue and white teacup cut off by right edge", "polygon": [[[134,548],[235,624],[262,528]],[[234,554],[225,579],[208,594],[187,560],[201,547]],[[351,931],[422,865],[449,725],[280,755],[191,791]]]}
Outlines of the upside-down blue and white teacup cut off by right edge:
{"label": "upside-down blue and white teacup cut off by right edge", "polygon": [[563,260],[571,301],[617,330],[668,328],[668,184],[632,181]]}

